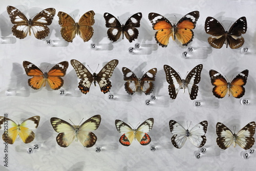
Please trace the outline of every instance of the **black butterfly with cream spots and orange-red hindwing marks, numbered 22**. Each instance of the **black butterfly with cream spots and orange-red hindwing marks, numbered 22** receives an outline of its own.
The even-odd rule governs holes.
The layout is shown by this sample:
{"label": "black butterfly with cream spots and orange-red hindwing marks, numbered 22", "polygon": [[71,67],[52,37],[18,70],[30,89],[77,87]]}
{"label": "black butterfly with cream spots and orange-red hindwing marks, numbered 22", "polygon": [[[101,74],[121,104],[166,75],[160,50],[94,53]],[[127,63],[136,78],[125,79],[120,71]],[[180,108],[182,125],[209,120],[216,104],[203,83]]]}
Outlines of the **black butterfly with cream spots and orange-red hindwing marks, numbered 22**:
{"label": "black butterfly with cream spots and orange-red hindwing marks, numbered 22", "polygon": [[72,59],[71,65],[74,67],[77,77],[81,78],[78,88],[83,94],[87,94],[90,90],[91,84],[98,82],[102,93],[108,93],[112,87],[109,78],[112,76],[114,69],[118,65],[118,60],[113,59],[106,63],[106,65],[100,70],[98,74],[91,74],[90,71],[78,60]]}

